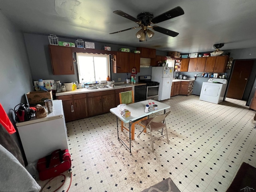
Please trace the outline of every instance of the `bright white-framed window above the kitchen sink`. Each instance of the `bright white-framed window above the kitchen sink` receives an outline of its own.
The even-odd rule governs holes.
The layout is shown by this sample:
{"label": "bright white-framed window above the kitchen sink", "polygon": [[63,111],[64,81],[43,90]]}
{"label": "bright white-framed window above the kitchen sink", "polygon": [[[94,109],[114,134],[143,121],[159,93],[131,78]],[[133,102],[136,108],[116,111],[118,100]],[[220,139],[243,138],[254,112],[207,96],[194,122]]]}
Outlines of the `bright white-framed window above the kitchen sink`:
{"label": "bright white-framed window above the kitchen sink", "polygon": [[76,59],[80,83],[106,82],[110,76],[109,55],[77,53]]}

